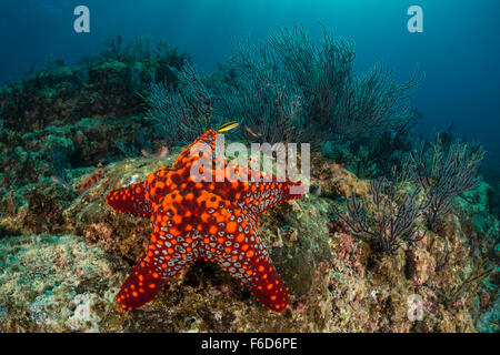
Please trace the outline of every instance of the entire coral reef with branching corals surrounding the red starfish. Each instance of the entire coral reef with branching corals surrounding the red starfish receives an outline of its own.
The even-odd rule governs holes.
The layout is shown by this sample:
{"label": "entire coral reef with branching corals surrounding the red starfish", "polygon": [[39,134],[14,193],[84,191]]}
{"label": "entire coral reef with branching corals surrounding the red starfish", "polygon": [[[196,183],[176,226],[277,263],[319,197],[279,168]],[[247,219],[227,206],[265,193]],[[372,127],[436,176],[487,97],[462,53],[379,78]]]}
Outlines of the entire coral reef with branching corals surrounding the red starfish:
{"label": "entire coral reef with branching corals surrounding the red starfish", "polygon": [[[441,148],[413,152],[423,169],[409,175],[420,179],[391,175],[412,171],[419,113],[409,97],[420,79],[398,84],[378,64],[358,74],[353,57],[327,30],[317,43],[300,27],[277,29],[261,47],[239,42],[206,75],[174,49],[117,37],[78,68],[52,60],[0,88],[0,332],[498,333],[498,185],[478,169],[482,151],[442,136]],[[120,311],[114,295],[152,230],[116,213],[107,194],[173,166],[220,120],[240,120],[234,141],[311,133],[322,148],[310,191],[257,226],[290,307],[270,312],[198,261],[151,303]],[[444,209],[429,221],[413,213],[450,181],[462,184]],[[356,233],[358,217],[373,239]],[[389,243],[377,248],[379,236]]]}

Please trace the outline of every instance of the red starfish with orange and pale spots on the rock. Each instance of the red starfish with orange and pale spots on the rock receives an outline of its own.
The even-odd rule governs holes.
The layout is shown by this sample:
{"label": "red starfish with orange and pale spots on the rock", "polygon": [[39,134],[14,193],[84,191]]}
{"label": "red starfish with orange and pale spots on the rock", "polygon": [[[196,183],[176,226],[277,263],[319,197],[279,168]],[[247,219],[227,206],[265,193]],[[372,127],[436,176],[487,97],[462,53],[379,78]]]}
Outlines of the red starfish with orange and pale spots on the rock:
{"label": "red starfish with orange and pale spots on the rock", "polygon": [[[160,168],[147,181],[108,194],[106,202],[118,212],[151,216],[151,242],[117,295],[121,308],[137,308],[151,301],[199,258],[218,262],[271,310],[288,308],[288,287],[256,227],[267,207],[299,199],[303,185],[288,179],[278,182],[272,174],[228,164],[217,153],[213,158],[218,134],[206,132],[179,155],[173,168]],[[191,148],[198,149],[197,154]],[[216,182],[216,171],[229,168],[244,179]],[[202,174],[201,181],[191,171]],[[259,180],[251,180],[251,173]],[[300,193],[291,194],[291,187]]]}

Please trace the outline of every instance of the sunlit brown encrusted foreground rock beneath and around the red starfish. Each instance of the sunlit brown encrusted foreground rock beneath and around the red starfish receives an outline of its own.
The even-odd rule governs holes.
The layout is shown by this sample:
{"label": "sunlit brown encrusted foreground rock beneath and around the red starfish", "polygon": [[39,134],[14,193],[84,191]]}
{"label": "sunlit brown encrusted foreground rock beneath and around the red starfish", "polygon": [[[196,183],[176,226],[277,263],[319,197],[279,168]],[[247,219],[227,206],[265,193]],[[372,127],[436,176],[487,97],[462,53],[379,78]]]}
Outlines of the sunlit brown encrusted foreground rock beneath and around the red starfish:
{"label": "sunlit brown encrusted foreground rock beneath and around the red starfish", "polygon": [[[113,296],[150,227],[146,219],[114,213],[104,196],[171,165],[178,153],[108,164],[94,184],[59,210],[49,196],[64,187],[44,182],[38,200],[32,197],[38,202],[2,217],[2,229],[22,234],[0,240],[2,331],[497,331],[488,321],[498,312],[499,270],[480,275],[491,268],[486,257],[499,256],[500,223],[488,213],[486,183],[456,199],[438,232],[394,255],[377,254],[331,213],[351,192],[368,194],[368,181],[319,154],[312,159],[313,193],[271,209],[259,226],[290,286],[291,310],[263,308],[218,265],[200,262],[151,304],[118,311]],[[412,295],[421,297],[421,321],[409,320]]]}

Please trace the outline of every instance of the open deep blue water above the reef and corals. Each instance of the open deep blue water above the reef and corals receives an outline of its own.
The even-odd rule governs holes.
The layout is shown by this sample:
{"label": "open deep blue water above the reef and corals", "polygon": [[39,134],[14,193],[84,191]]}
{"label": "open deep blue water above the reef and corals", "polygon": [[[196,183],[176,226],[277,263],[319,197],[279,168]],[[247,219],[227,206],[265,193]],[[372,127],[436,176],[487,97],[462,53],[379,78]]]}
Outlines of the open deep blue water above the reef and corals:
{"label": "open deep blue water above the reef and corals", "polygon": [[[73,31],[73,9],[91,11],[91,33]],[[423,8],[424,32],[407,31],[407,9]],[[318,21],[356,42],[357,68],[374,60],[408,79],[426,71],[413,104],[426,115],[421,130],[451,123],[482,141],[500,162],[499,0],[1,0],[0,83],[17,80],[49,54],[77,63],[116,34],[162,38],[208,70],[223,61],[236,37],[264,38],[270,27]]]}

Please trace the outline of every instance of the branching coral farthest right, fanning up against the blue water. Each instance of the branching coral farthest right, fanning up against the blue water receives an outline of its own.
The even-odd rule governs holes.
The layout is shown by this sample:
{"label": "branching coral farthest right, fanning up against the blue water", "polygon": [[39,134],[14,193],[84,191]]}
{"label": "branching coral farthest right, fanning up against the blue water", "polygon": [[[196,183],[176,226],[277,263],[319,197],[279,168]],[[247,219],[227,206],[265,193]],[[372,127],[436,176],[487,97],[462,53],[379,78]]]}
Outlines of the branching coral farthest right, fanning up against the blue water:
{"label": "branching coral farthest right, fanning up against the blue water", "polygon": [[434,142],[421,143],[414,150],[413,175],[426,192],[423,212],[429,229],[450,212],[454,196],[478,185],[476,175],[484,152],[480,145],[468,145],[459,140],[444,144],[438,135]]}

